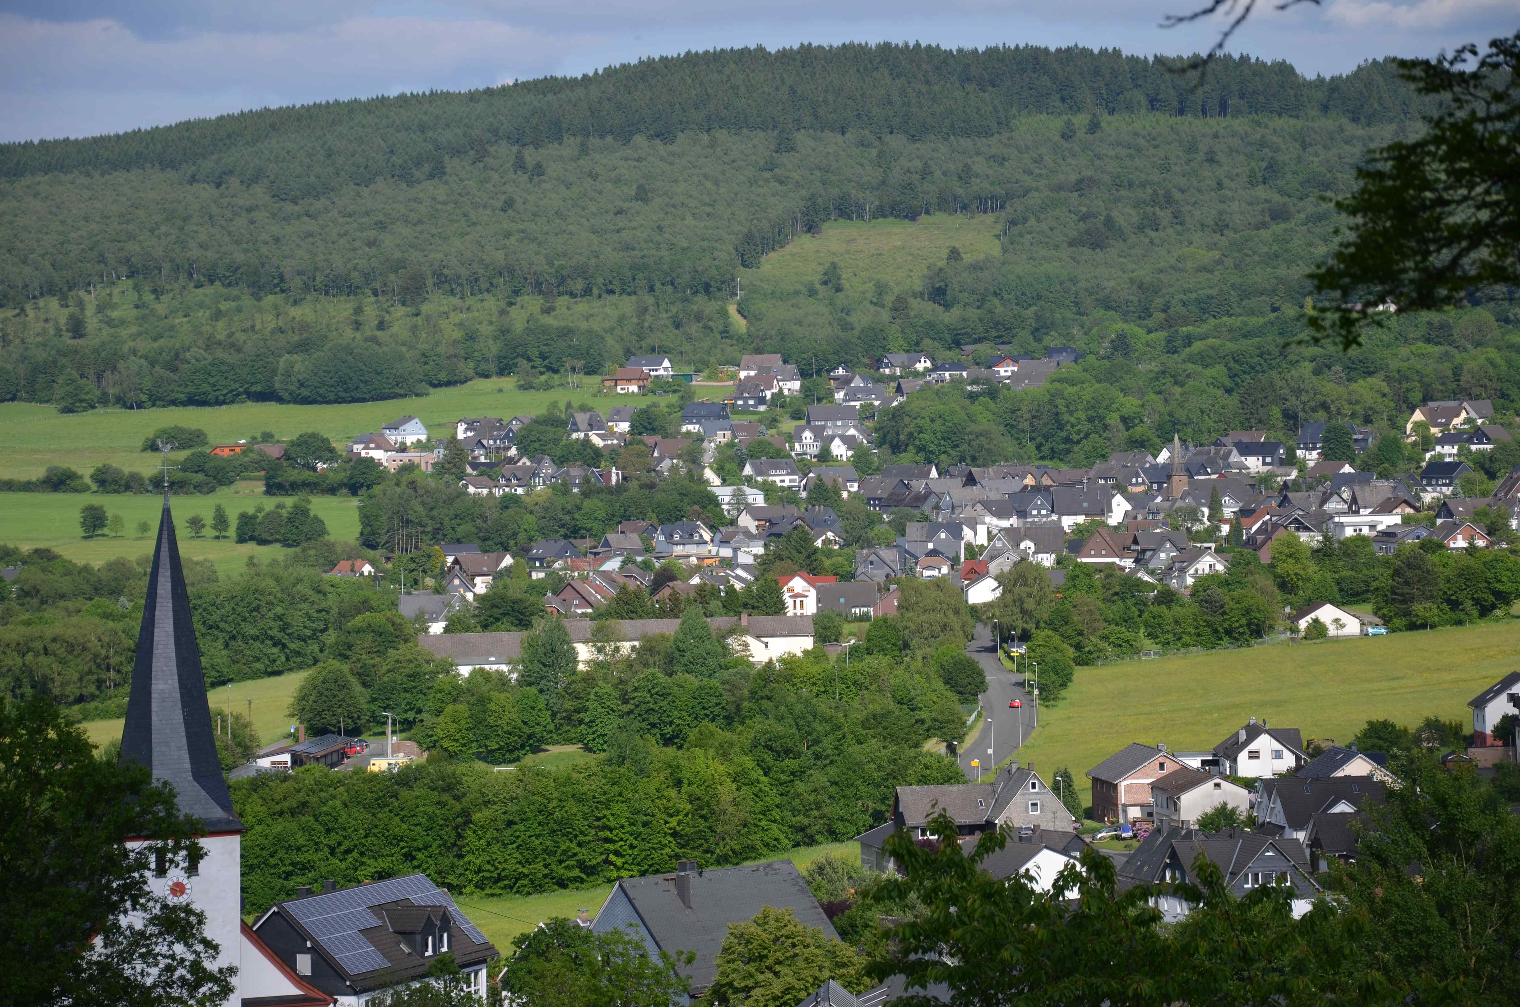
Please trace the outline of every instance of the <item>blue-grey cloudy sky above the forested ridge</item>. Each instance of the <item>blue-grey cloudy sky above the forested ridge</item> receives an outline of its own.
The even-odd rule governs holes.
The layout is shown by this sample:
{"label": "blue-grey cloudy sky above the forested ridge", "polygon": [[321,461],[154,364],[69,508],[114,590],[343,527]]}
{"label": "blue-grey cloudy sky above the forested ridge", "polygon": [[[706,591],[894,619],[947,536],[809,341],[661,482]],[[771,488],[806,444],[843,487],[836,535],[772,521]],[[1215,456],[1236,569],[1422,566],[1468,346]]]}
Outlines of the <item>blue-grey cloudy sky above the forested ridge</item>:
{"label": "blue-grey cloudy sky above the forested ridge", "polygon": [[[1207,49],[1202,0],[0,0],[0,140],[91,135],[264,105],[471,88],[690,49],[800,41]],[[1520,27],[1520,0],[1262,8],[1231,49],[1342,73]],[[929,14],[929,12],[932,14]]]}

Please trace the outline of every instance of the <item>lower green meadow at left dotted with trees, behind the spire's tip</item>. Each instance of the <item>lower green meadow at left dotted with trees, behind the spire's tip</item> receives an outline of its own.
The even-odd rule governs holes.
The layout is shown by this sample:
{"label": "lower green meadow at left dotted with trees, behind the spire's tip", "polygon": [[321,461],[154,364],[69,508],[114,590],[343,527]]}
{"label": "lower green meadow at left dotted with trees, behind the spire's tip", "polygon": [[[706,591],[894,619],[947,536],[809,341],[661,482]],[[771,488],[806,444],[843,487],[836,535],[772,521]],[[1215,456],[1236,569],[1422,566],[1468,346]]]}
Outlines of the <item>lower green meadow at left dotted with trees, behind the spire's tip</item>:
{"label": "lower green meadow at left dotted with trees, behind the spire's tip", "polygon": [[[220,504],[226,516],[237,520],[239,511],[251,511],[263,502],[275,500],[263,496],[261,482],[237,482],[211,496],[176,496],[172,507],[175,532],[179,540],[179,555],[188,560],[211,560],[222,577],[242,570],[249,555],[266,560],[281,552],[281,546],[239,545],[228,538],[213,538],[210,532],[211,511]],[[84,538],[79,532],[79,508],[85,504],[100,504],[108,514],[120,514],[126,522],[126,535],[109,538]],[[0,542],[35,549],[46,546],[76,563],[100,564],[116,557],[134,560],[154,551],[154,535],[158,532],[158,517],[164,499],[157,494],[111,494],[94,493],[0,493]],[[327,523],[333,538],[359,538],[359,500],[354,497],[318,496],[312,499],[312,511]],[[192,538],[185,519],[199,514],[208,528],[202,538]],[[150,531],[138,537],[137,523],[146,520]]]}

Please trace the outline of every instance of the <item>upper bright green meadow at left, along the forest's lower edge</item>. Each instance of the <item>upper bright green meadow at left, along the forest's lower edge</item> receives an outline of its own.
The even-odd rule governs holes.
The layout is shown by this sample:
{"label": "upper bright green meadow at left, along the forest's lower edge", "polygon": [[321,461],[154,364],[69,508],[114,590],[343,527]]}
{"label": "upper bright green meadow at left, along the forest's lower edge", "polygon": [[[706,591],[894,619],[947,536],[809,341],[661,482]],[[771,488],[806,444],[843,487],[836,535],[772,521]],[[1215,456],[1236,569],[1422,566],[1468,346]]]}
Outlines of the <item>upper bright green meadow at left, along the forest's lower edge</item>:
{"label": "upper bright green meadow at left, along the forest's lower edge", "polygon": [[461,417],[532,414],[549,402],[562,406],[567,399],[599,409],[634,400],[631,395],[603,395],[600,379],[591,374],[582,388],[518,391],[511,377],[486,377],[438,388],[421,399],[336,406],[258,402],[217,408],[94,409],[64,415],[49,405],[8,402],[0,403],[0,478],[30,479],[49,465],[68,465],[88,476],[103,462],[147,472],[158,464],[158,456],[141,452],[143,438],[170,424],[201,427],[213,444],[257,438],[264,430],[280,438],[319,430],[334,444],[342,444],[359,434],[378,432],[403,415],[423,420],[429,434],[447,435]]}

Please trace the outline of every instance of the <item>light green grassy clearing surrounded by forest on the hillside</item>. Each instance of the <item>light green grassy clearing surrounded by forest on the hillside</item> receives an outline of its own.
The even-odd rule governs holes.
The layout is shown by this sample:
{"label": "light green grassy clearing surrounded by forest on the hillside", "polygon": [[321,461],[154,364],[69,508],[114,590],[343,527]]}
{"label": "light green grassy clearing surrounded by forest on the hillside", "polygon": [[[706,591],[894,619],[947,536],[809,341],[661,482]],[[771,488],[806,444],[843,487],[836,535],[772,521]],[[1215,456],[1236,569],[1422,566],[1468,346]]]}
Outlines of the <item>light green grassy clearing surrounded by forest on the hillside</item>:
{"label": "light green grassy clearing surrounded by forest on the hillside", "polygon": [[[838,262],[847,292],[865,294],[877,280],[894,291],[915,291],[924,269],[942,266],[955,245],[967,259],[996,256],[997,233],[990,218],[935,214],[912,221],[836,221],[822,234],[804,236],[760,260],[745,278],[757,294],[792,294],[818,283],[830,262]],[[851,291],[851,286],[854,291]]]}

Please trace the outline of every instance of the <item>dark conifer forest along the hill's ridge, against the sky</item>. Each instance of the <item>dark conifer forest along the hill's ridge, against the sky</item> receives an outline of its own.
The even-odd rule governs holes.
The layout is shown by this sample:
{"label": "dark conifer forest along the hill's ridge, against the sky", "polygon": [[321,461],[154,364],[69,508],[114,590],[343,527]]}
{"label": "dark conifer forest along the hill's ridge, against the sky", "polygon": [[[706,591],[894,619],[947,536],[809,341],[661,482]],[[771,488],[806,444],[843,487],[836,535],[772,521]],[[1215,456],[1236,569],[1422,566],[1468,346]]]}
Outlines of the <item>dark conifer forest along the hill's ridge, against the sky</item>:
{"label": "dark conifer forest along the hill's ridge, against the sky", "polygon": [[1119,50],[847,44],[727,49],[643,59],[581,78],[465,93],[258,110],[90,140],[0,145],[0,176],[184,170],[184,181],[268,181],[286,198],[426,173],[479,145],[541,148],[576,137],[672,140],[686,131],[819,129],[990,137],[1031,114],[1408,117],[1415,97],[1388,61],[1306,79],[1287,62],[1214,64]]}

